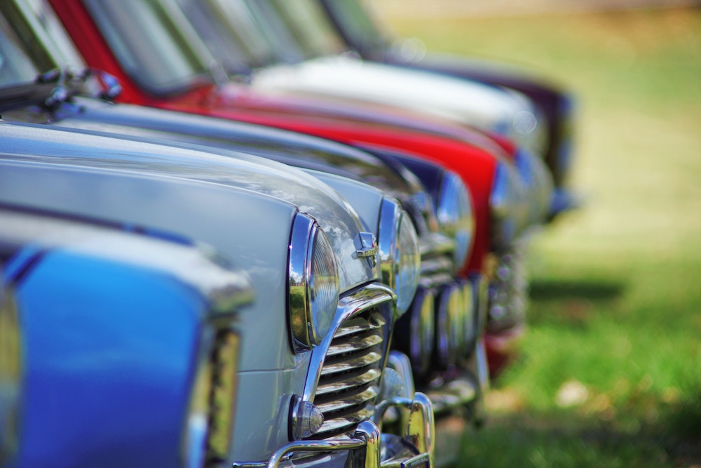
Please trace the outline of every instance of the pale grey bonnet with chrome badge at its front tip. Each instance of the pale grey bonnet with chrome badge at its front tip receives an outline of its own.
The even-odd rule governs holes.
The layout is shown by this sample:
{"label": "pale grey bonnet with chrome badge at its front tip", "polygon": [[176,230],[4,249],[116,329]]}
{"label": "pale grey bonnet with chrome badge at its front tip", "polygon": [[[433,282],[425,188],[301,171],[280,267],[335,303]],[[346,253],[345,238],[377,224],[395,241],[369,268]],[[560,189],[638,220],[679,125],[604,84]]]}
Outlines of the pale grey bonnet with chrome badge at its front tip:
{"label": "pale grey bonnet with chrome badge at its front tip", "polygon": [[[353,288],[377,274],[357,260],[354,239],[367,230],[353,208],[337,192],[294,168],[257,159],[234,159],[224,149],[207,149],[158,140],[125,140],[86,131],[68,131],[32,124],[0,123],[3,150],[15,157],[50,163],[59,157],[76,166],[139,171],[177,178],[214,182],[273,196],[294,204],[315,218],[329,236],[336,253],[341,288]],[[250,156],[251,158],[253,156]],[[354,258],[356,257],[356,258]]]}

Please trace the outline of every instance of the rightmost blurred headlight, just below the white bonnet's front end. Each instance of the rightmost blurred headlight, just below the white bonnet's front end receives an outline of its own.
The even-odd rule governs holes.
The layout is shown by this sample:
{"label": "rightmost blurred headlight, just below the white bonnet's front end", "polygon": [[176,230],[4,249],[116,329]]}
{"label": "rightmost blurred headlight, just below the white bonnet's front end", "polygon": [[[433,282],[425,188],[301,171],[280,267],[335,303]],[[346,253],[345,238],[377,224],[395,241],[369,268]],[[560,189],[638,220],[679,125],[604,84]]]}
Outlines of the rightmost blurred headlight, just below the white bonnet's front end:
{"label": "rightmost blurred headlight, just below the white bonnet's front end", "polygon": [[545,163],[526,149],[518,149],[514,165],[526,186],[529,201],[528,222],[531,225],[545,220],[552,201],[552,177]]}

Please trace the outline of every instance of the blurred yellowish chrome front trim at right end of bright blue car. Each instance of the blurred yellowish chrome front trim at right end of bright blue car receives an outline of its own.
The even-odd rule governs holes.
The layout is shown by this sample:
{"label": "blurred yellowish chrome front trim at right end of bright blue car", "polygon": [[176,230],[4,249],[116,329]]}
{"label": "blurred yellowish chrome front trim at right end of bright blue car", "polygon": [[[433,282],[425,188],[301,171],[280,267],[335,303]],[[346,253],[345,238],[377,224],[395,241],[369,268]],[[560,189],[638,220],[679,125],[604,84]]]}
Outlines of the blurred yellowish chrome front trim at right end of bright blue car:
{"label": "blurred yellowish chrome front trim at right end of bright blue car", "polygon": [[226,460],[231,445],[239,337],[222,329],[205,342],[209,351],[198,361],[185,422],[187,468]]}

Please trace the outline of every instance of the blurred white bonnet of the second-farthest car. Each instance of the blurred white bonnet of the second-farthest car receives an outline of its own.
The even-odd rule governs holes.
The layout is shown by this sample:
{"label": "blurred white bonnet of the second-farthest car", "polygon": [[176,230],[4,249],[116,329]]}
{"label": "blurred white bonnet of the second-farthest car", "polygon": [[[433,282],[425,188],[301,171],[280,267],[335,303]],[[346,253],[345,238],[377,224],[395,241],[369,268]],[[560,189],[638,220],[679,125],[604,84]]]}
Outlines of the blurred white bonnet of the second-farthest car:
{"label": "blurred white bonnet of the second-farthest car", "polygon": [[392,105],[508,135],[523,133],[514,126],[516,116],[536,118],[526,99],[501,88],[344,57],[268,67],[254,75],[252,86]]}

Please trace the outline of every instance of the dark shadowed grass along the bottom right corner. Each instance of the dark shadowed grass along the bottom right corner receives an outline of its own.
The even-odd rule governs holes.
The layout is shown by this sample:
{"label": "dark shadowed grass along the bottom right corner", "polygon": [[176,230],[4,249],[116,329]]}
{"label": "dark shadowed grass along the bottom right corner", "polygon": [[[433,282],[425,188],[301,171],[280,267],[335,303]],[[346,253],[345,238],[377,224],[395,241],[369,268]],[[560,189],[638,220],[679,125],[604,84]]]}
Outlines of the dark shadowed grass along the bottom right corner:
{"label": "dark shadowed grass along the bottom right corner", "polygon": [[662,425],[624,432],[572,414],[492,417],[464,434],[452,468],[489,467],[692,467],[701,464],[693,437]]}

